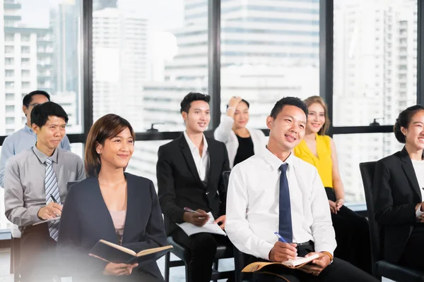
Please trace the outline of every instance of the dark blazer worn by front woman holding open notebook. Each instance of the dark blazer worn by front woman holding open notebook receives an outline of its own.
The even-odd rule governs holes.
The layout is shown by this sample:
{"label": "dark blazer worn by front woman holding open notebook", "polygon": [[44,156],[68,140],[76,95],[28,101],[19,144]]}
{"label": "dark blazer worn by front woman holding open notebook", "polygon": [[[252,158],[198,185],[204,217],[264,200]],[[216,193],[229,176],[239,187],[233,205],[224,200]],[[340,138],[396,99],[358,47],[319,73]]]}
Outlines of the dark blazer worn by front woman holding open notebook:
{"label": "dark blazer worn by front woman holding open notebook", "polygon": [[[125,178],[127,203],[122,245],[135,252],[167,245],[153,182],[130,173],[125,173]],[[119,243],[98,178],[90,177],[72,185],[62,210],[57,250],[65,262],[65,273],[77,280],[101,275],[107,262],[88,256],[100,239]],[[163,281],[155,262],[140,264],[137,269]]]}

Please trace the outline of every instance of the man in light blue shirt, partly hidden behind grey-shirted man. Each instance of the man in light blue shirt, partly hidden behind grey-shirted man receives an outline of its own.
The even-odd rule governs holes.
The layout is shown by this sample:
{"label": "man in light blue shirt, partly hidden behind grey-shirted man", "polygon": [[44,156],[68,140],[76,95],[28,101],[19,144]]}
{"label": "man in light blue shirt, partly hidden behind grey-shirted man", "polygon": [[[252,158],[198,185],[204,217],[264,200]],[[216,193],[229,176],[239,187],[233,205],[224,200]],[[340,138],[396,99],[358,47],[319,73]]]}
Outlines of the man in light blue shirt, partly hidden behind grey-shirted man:
{"label": "man in light blue shirt, partly hidden behind grey-shirted man", "polygon": [[[23,114],[26,116],[27,122],[22,129],[6,137],[3,145],[1,146],[0,187],[4,188],[4,167],[6,166],[7,159],[32,148],[35,145],[35,142],[37,142],[37,135],[35,135],[33,129],[31,129],[31,111],[34,106],[49,101],[50,95],[42,90],[30,92],[23,97],[22,110]],[[69,140],[66,135],[62,138],[59,148],[71,151],[71,145],[69,144]]]}

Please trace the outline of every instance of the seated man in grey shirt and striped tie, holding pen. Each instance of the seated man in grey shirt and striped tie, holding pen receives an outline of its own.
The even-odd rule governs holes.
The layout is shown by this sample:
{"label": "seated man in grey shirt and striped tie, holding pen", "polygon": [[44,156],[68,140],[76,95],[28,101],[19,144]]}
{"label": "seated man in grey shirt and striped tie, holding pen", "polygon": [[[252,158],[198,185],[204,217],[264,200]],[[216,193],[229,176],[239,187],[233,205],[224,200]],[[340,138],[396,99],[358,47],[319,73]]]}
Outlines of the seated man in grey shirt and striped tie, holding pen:
{"label": "seated man in grey shirt and striped tie, holding pen", "polygon": [[5,214],[19,226],[20,281],[46,281],[54,275],[59,221],[39,223],[61,215],[66,183],[85,178],[83,161],[59,148],[68,115],[61,106],[45,102],[31,113],[35,146],[8,159],[4,178]]}

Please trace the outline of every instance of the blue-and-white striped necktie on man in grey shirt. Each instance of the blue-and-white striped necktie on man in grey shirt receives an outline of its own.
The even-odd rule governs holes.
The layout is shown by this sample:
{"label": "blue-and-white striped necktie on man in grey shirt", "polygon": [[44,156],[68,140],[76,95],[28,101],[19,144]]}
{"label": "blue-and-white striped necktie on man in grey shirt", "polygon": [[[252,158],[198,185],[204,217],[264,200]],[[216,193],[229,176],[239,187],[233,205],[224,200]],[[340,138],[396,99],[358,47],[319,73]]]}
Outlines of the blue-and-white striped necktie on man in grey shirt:
{"label": "blue-and-white striped necktie on man in grey shirt", "polygon": [[[45,189],[46,204],[52,202],[52,197],[50,197],[50,195],[53,195],[54,199],[57,200],[57,203],[60,204],[59,185],[57,184],[56,173],[53,171],[52,159],[46,160]],[[52,237],[55,241],[57,241],[57,236],[59,235],[59,222],[60,221],[48,222],[50,237]]]}

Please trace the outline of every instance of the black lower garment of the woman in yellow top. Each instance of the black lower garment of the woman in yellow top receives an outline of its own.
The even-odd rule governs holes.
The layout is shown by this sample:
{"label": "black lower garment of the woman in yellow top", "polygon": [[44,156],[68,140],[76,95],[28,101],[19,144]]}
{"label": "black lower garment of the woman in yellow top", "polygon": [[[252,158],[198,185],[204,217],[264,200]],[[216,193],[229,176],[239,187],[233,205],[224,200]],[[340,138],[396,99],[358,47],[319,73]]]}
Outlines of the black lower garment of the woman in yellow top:
{"label": "black lower garment of the woman in yellow top", "polygon": [[[336,202],[334,189],[325,188],[329,200]],[[370,229],[364,216],[348,207],[341,207],[337,214],[331,213],[337,247],[334,257],[346,260],[367,273],[372,273]]]}

